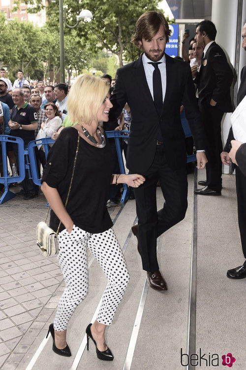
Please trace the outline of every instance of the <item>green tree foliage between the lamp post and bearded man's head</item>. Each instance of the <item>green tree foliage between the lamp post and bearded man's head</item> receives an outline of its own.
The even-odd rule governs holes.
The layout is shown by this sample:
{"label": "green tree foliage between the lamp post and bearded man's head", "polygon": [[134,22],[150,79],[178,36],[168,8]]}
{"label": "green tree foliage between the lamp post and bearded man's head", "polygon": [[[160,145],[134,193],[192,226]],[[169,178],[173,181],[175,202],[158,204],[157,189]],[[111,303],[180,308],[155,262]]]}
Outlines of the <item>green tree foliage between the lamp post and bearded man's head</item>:
{"label": "green tree foliage between the lamp post and bearded man's head", "polygon": [[[80,5],[67,1],[71,12],[78,12]],[[91,10],[93,18],[89,24],[80,24],[78,33],[86,37],[91,47],[95,45],[97,48],[105,47],[116,54],[122,66],[124,55],[125,59],[131,61],[139,53],[130,43],[136,20],[145,11],[156,10],[158,2],[158,0],[83,0],[83,7]],[[91,35],[96,36],[96,42]]]}

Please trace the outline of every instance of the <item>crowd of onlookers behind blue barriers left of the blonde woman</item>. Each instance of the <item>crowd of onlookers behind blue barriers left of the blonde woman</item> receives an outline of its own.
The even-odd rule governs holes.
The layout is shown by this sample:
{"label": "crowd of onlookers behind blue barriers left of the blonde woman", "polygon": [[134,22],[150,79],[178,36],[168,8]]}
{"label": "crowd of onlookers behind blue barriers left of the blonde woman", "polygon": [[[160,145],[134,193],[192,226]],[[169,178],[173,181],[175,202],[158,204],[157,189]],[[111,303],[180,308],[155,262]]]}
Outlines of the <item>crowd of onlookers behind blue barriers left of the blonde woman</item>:
{"label": "crowd of onlookers behind blue barriers left of the blonde woman", "polygon": [[[23,71],[19,70],[12,86],[4,68],[0,72],[1,134],[21,137],[25,148],[31,140],[52,137],[67,116],[68,85],[57,83],[55,86],[45,86],[43,81],[39,81],[36,86],[30,86],[23,77]],[[10,168],[16,164],[19,171],[17,145],[7,142],[7,156]],[[41,145],[36,150],[36,156],[44,167],[46,159]],[[1,158],[0,173],[2,175]],[[29,179],[28,171],[22,186],[23,189],[16,192],[17,196],[24,196],[25,200],[38,196],[39,188]],[[0,184],[0,190],[3,188],[3,184]]]}

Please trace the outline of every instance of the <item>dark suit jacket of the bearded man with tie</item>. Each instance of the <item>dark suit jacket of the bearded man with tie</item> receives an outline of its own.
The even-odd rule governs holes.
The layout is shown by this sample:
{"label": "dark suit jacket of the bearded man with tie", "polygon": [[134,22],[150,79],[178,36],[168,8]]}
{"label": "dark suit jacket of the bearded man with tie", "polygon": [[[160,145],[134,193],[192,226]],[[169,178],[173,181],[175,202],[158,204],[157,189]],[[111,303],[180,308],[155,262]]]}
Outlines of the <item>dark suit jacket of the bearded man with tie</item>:
{"label": "dark suit jacket of the bearded man with tie", "polygon": [[111,97],[110,123],[105,129],[116,127],[113,123],[126,102],[131,110],[131,126],[127,149],[127,168],[132,173],[145,173],[152,165],[156,150],[158,129],[164,142],[166,160],[171,168],[186,163],[184,131],[180,119],[183,101],[196,149],[205,149],[203,123],[195,98],[191,70],[187,63],[166,57],[166,93],[160,117],[147,84],[142,56],[118,69],[115,89]]}

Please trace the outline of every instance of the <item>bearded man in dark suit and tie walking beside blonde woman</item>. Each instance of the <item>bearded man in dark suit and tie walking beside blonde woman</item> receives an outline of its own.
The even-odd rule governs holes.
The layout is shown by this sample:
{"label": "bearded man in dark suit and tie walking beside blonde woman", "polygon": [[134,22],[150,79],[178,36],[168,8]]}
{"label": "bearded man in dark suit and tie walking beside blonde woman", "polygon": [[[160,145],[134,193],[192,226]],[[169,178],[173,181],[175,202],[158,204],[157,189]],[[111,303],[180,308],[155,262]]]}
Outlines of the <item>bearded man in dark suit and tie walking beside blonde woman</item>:
{"label": "bearded man in dark suit and tie walking beside blonde woman", "polygon": [[[138,19],[132,42],[143,54],[118,69],[111,97],[111,124],[105,126],[106,130],[115,129],[115,120],[127,102],[131,126],[126,166],[131,173],[137,169],[146,177],[144,186],[134,191],[138,225],[132,230],[138,238],[150,286],[159,291],[167,290],[167,284],[159,271],[156,238],[183,220],[187,208],[185,137],[180,120],[182,101],[196,149],[200,150],[197,168],[204,168],[207,162],[204,129],[190,67],[164,53],[169,35],[162,13],[151,11]],[[158,179],[165,202],[157,212]]]}

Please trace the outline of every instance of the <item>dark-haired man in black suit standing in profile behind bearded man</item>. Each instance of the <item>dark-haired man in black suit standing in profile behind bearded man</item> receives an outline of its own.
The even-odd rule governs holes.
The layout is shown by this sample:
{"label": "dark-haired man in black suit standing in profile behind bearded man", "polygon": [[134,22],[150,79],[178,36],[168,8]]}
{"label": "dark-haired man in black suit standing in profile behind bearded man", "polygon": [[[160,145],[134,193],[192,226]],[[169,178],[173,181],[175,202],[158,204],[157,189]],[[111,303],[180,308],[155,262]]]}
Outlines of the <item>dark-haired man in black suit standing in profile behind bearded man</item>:
{"label": "dark-haired man in black suit standing in profile behind bearded man", "polygon": [[208,164],[206,181],[198,182],[204,187],[196,189],[195,194],[219,196],[222,188],[221,120],[224,112],[232,111],[230,86],[233,72],[225,53],[215,42],[216,33],[215,25],[211,21],[205,20],[197,25],[195,40],[199,46],[204,47],[204,57],[195,82],[208,141],[206,147]]}

